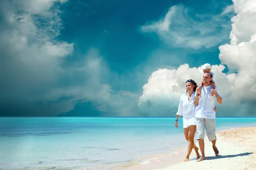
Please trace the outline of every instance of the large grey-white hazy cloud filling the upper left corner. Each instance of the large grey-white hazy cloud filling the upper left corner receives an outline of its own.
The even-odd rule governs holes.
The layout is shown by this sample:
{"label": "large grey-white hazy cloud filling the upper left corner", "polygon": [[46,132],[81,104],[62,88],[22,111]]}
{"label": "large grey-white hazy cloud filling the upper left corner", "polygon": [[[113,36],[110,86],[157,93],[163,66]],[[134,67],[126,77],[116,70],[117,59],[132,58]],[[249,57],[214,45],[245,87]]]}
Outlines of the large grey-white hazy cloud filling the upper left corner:
{"label": "large grey-white hazy cloud filling the upper left corner", "polygon": [[3,0],[0,33],[1,104],[42,100],[63,74],[61,62],[73,43],[55,40],[62,21],[58,9],[66,0]]}

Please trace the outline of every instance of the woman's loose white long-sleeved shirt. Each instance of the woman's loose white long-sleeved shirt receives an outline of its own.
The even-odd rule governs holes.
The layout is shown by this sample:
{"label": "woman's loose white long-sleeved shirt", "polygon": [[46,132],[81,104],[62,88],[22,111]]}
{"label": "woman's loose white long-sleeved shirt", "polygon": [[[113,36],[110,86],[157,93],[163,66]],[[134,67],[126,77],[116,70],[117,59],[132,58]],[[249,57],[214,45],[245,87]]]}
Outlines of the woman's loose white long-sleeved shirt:
{"label": "woman's loose white long-sleeved shirt", "polygon": [[190,99],[186,93],[182,94],[180,96],[180,104],[179,104],[179,108],[176,115],[183,116],[183,118],[185,119],[190,119],[192,117],[195,117],[194,99],[195,99],[195,92],[192,93]]}

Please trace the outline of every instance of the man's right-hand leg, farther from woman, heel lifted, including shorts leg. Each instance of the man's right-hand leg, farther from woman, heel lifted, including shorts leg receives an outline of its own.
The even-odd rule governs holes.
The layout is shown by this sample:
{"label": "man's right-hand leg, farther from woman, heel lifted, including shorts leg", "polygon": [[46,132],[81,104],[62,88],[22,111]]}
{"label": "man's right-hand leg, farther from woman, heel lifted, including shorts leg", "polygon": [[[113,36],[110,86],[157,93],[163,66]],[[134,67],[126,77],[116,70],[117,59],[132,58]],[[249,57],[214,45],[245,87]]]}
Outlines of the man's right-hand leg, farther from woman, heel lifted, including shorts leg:
{"label": "man's right-hand leg, farther from woman, heel lifted, including shorts leg", "polygon": [[209,142],[212,142],[212,149],[215,153],[215,156],[218,156],[219,151],[218,148],[216,147],[217,138],[215,135],[216,119],[205,119],[205,127]]}

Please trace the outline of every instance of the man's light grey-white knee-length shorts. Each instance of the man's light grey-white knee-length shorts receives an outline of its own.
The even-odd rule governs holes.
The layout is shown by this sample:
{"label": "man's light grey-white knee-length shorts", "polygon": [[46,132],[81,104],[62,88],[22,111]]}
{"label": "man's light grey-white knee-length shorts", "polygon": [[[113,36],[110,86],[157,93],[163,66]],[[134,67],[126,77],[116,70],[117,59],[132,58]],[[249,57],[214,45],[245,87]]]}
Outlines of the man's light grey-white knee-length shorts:
{"label": "man's light grey-white knee-length shorts", "polygon": [[197,118],[196,119],[196,130],[198,132],[198,139],[204,139],[204,129],[206,129],[206,134],[209,139],[209,142],[212,142],[216,139],[215,128],[216,128],[216,120],[215,119],[204,119]]}

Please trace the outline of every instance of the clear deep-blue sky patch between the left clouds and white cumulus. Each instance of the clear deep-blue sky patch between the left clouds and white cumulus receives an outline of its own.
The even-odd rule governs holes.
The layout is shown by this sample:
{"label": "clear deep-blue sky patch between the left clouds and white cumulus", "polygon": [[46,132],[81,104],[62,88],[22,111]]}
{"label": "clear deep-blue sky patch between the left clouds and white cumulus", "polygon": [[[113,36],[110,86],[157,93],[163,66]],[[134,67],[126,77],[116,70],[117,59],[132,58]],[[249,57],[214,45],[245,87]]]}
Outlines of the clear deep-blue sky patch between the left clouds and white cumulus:
{"label": "clear deep-blue sky patch between the left clouds and white cumulus", "polygon": [[[128,91],[140,91],[151,72],[163,67],[163,65],[178,67],[183,63],[189,63],[192,67],[197,67],[205,62],[220,64],[218,45],[212,48],[188,48],[184,51],[183,48],[175,48],[165,44],[156,34],[143,33],[140,26],[147,22],[159,20],[171,6],[177,4],[183,4],[189,8],[192,17],[195,17],[196,14],[207,14],[210,17],[220,14],[231,3],[230,1],[226,3],[197,1],[194,3],[193,1],[178,0],[163,1],[163,3],[157,3],[153,0],[147,3],[144,1],[107,0],[97,2],[80,0],[76,3],[69,1],[63,6],[64,29],[58,38],[74,43],[75,53],[73,56],[67,57],[68,64],[80,60],[81,57],[79,56],[86,54],[90,48],[96,48],[108,63],[111,72],[124,77],[131,76],[130,74],[134,74],[134,71],[144,71],[145,67],[149,67],[148,72],[144,73],[147,75],[143,77],[143,82],[137,87],[134,86],[134,82],[131,82],[132,85],[125,85],[124,83],[118,85],[119,83],[117,83],[116,88],[124,87]],[[230,17],[226,19],[226,22],[230,22]],[[231,25],[227,28],[227,33],[230,32],[230,29]],[[228,42],[229,35],[224,36],[224,42]],[[158,51],[166,57],[152,56],[152,53]],[[172,55],[175,55],[174,60],[171,59]],[[156,61],[150,63],[154,57]],[[133,75],[132,77],[137,78]],[[115,84],[116,80],[113,81],[112,85]]]}

